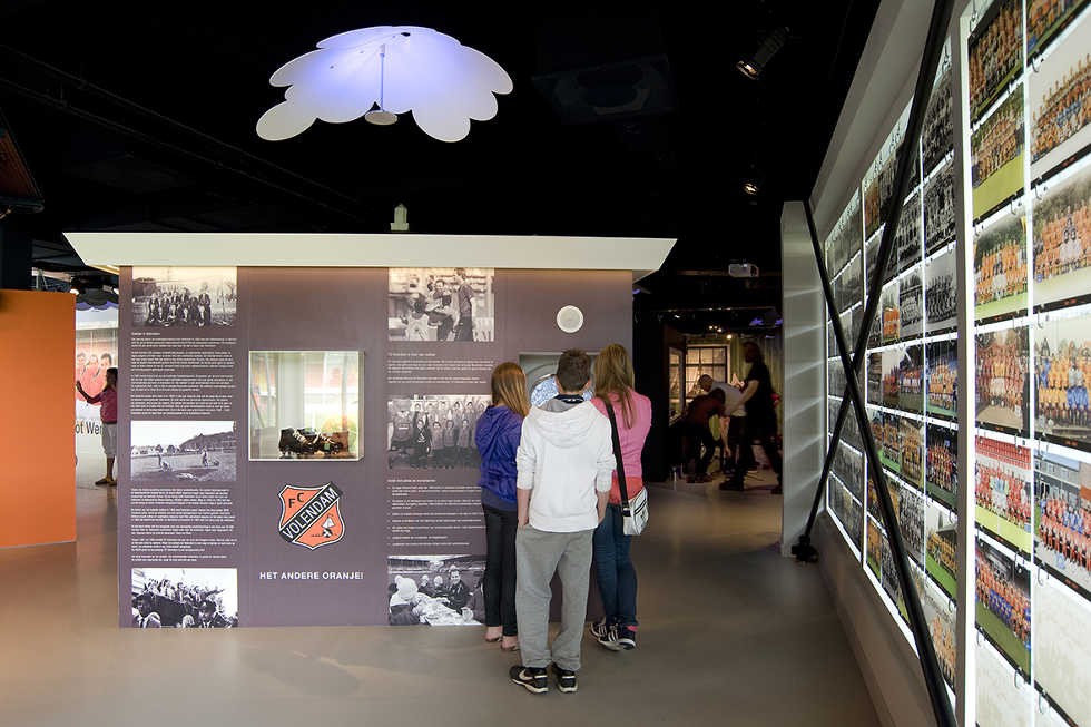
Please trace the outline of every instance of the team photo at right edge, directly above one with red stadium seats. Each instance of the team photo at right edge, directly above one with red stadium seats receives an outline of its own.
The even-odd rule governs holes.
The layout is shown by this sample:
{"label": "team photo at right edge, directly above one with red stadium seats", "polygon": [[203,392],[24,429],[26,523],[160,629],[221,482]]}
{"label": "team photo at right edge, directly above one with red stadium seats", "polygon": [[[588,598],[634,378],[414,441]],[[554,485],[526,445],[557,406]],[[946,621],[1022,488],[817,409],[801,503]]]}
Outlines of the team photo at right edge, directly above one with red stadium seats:
{"label": "team photo at right edge, directly above one with red stadium seats", "polygon": [[1034,343],[1035,433],[1091,451],[1091,316],[1040,322]]}

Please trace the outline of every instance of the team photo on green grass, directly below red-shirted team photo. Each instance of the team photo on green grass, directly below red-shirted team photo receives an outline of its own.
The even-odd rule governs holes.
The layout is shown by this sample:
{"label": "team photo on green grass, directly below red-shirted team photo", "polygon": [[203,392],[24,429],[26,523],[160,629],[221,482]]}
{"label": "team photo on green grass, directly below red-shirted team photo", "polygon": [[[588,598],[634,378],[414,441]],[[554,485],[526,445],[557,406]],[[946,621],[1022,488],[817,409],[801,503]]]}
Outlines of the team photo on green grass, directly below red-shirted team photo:
{"label": "team photo on green grass, directly below red-shirted team photo", "polygon": [[976,543],[977,627],[1022,672],[1031,672],[1030,571],[979,538]]}

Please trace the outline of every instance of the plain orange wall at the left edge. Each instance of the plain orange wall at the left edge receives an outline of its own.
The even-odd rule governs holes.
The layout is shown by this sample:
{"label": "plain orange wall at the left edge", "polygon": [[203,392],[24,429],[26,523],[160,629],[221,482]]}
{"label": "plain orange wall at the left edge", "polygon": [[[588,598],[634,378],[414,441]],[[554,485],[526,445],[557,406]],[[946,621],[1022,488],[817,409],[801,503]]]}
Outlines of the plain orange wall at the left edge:
{"label": "plain orange wall at the left edge", "polygon": [[76,540],[76,296],[0,291],[0,547]]}

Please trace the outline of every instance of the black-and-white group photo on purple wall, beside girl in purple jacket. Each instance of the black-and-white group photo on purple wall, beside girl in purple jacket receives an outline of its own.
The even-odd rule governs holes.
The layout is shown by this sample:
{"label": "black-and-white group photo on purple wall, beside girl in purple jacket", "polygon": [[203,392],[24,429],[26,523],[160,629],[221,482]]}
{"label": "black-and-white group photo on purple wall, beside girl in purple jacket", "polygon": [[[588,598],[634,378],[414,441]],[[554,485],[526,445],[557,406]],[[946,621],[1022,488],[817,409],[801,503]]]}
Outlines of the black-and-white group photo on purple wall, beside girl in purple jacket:
{"label": "black-and-white group photo on purple wall, beside girl in purple jacket", "polygon": [[394,468],[476,469],[474,434],[488,394],[395,396],[386,403],[386,462]]}

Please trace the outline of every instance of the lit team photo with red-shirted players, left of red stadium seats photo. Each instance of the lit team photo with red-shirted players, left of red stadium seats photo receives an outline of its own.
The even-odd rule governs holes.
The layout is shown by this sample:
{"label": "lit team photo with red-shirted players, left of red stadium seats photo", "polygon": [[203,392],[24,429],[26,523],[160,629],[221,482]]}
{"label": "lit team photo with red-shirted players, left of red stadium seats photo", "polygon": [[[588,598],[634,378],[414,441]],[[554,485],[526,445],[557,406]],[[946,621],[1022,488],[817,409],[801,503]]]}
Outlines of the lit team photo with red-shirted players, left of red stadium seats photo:
{"label": "lit team photo with red-shirted players, left of red stadium seats photo", "polygon": [[974,502],[977,525],[1011,548],[1031,552],[1031,451],[976,438]]}

